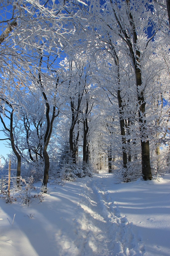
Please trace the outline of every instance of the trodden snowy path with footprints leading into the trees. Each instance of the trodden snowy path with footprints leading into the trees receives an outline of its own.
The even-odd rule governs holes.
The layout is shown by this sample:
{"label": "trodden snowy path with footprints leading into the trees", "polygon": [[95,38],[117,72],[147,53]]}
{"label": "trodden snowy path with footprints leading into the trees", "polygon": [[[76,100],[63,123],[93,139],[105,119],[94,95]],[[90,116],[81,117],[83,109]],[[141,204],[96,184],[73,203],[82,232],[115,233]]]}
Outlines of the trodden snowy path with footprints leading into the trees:
{"label": "trodden snowy path with footprints leading into the trees", "polygon": [[81,244],[81,256],[130,256],[143,255],[141,238],[134,237],[131,224],[117,209],[107,191],[110,174],[96,175],[81,185],[82,223],[76,229],[77,240]]}

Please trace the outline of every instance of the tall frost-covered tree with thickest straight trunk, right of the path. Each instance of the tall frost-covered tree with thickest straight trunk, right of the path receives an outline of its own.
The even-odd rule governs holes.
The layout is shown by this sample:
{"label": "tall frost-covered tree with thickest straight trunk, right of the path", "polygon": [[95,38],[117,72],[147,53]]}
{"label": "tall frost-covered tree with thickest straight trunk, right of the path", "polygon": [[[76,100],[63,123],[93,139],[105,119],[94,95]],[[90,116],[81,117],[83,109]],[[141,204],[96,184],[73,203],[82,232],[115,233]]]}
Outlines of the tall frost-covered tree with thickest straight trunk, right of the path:
{"label": "tall frost-covered tree with thickest straight trunk, right of the path", "polygon": [[[98,41],[99,39],[101,40],[100,44],[103,44],[108,52],[111,52],[111,50],[114,52],[114,49],[118,48],[120,53],[124,53],[133,71],[132,76],[134,76],[136,84],[134,97],[137,102],[141,141],[142,175],[146,180],[151,179],[148,122],[146,116],[146,88],[148,88],[149,83],[145,83],[146,69],[143,63],[145,62],[148,49],[150,49],[150,55],[153,55],[155,34],[162,29],[161,26],[166,22],[167,16],[164,15],[164,10],[160,6],[154,9],[154,6],[149,1],[144,3],[136,0],[126,0],[120,1],[118,5],[117,1],[109,0],[102,7],[100,7],[98,2],[94,1],[93,4],[91,5],[91,13],[93,13],[93,18],[96,19],[97,25],[94,31]],[[149,21],[147,24],[146,20]],[[149,28],[152,28],[151,34],[148,32]],[[116,55],[114,52],[115,57]]]}

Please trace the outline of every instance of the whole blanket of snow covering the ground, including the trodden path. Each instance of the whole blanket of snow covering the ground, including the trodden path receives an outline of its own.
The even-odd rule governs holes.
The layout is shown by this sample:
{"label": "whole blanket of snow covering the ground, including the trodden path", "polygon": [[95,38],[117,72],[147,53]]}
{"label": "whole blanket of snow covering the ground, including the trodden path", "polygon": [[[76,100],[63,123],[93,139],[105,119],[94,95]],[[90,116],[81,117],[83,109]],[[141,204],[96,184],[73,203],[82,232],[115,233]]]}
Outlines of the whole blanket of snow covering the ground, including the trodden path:
{"label": "whole blanket of snow covering the ground, including the trodden path", "polygon": [[101,172],[48,193],[29,207],[0,200],[1,256],[170,255],[170,174],[118,184]]}

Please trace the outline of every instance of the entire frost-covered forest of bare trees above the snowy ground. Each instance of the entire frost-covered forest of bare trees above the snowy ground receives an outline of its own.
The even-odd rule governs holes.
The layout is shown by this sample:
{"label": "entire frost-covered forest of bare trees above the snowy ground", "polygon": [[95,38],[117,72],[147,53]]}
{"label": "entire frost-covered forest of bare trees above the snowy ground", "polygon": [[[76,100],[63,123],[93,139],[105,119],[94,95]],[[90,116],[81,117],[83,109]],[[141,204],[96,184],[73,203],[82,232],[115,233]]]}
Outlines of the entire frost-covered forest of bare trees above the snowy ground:
{"label": "entire frost-covered forest of bare trees above the snowy ground", "polygon": [[45,187],[103,168],[123,182],[169,171],[168,10],[169,0],[1,0],[3,174],[9,159]]}

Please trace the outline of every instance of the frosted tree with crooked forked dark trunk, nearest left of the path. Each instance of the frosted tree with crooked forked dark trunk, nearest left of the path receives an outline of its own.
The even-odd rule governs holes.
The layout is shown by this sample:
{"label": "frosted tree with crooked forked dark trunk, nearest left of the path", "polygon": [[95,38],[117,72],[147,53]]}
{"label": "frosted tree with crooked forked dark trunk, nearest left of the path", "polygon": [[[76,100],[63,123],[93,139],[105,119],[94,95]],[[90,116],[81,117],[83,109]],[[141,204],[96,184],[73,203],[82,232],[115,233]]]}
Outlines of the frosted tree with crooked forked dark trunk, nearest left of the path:
{"label": "frosted tree with crooked forked dark trunk, nearest left of the path", "polygon": [[[43,185],[46,186],[49,169],[47,146],[54,119],[59,113],[58,106],[61,103],[57,103],[60,98],[57,86],[62,82],[57,71],[60,67],[58,59],[62,54],[66,55],[67,51],[74,50],[73,29],[75,26],[79,27],[80,16],[74,17],[74,23],[71,20],[79,8],[77,9],[77,4],[74,2],[64,1],[52,4],[51,1],[27,0],[17,4],[11,1],[7,8],[9,2],[1,6],[5,11],[2,22],[9,22],[5,34],[1,35],[1,56],[4,58],[1,59],[0,65],[2,76],[5,74],[5,80],[1,79],[1,81],[5,86],[7,83],[10,84],[9,91],[11,89],[15,91],[14,84],[18,83],[32,95],[35,91],[37,92],[37,89],[41,92],[46,119],[42,150],[45,165]],[[24,123],[29,148],[27,118]],[[29,149],[29,155],[32,158],[30,153]]]}

